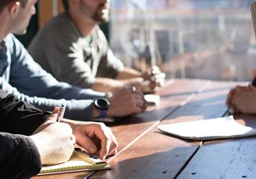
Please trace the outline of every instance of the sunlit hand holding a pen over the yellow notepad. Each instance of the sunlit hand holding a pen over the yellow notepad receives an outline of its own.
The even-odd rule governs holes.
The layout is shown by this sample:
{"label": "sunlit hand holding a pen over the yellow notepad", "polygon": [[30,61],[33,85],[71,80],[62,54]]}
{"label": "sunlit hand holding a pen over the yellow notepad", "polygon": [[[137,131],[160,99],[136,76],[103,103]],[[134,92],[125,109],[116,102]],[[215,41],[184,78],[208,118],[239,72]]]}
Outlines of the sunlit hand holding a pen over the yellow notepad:
{"label": "sunlit hand holding a pen over the yellow notepad", "polygon": [[39,150],[42,165],[65,163],[74,150],[76,138],[67,123],[56,122],[59,108],[30,136]]}

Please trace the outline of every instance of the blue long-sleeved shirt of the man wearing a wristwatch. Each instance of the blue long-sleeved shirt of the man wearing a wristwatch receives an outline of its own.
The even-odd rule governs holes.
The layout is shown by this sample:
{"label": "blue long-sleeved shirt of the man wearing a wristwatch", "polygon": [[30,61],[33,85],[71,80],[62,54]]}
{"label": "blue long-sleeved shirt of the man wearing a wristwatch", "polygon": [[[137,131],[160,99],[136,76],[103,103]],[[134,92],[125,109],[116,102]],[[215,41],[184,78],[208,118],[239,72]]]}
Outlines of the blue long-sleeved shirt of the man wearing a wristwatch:
{"label": "blue long-sleeved shirt of the man wearing a wristwatch", "polygon": [[[92,121],[92,102],[105,93],[58,82],[34,62],[23,45],[9,34],[3,40],[6,51],[0,50],[0,88],[42,110],[66,105],[65,117]],[[58,64],[56,64],[58,65]]]}

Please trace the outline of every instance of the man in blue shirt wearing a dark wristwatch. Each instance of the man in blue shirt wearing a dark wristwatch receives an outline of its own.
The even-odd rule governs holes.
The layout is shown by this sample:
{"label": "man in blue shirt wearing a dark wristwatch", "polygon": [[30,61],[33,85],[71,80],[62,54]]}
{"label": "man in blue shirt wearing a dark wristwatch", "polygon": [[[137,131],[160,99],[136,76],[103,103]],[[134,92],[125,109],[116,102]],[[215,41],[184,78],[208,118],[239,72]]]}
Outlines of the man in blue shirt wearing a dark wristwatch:
{"label": "man in blue shirt wearing a dark wristwatch", "polygon": [[105,99],[108,105],[102,109],[94,106],[94,99],[105,97],[105,93],[58,82],[34,62],[19,40],[10,34],[25,33],[30,17],[35,13],[34,3],[36,0],[0,1],[0,88],[43,110],[64,104],[67,107],[65,117],[80,121],[142,112],[145,108],[142,93],[122,89],[108,98],[109,103]]}

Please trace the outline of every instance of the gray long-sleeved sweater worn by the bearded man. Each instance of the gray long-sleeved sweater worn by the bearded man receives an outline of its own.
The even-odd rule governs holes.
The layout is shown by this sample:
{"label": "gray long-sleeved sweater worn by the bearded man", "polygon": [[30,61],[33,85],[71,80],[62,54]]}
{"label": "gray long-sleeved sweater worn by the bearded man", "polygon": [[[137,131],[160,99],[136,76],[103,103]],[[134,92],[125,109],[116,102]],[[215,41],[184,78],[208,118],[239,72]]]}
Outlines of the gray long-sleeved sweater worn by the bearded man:
{"label": "gray long-sleeved sweater worn by the bearded man", "polygon": [[57,80],[81,88],[90,88],[95,77],[114,78],[124,68],[98,25],[85,37],[66,12],[52,18],[28,50]]}

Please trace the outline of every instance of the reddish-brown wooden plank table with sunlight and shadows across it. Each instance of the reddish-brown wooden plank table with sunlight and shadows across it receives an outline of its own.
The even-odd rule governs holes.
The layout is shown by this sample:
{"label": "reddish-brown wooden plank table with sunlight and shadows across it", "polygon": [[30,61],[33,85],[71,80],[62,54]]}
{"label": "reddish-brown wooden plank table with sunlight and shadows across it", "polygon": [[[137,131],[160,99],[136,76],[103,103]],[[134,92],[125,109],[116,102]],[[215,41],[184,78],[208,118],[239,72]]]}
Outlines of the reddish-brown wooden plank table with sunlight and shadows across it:
{"label": "reddish-brown wooden plank table with sunlight and shadows across it", "polygon": [[[191,142],[162,134],[157,126],[228,115],[228,91],[244,82],[170,80],[160,90],[160,106],[149,106],[136,117],[111,127],[118,154],[111,170],[90,178],[255,178],[256,138]],[[256,107],[256,106],[255,106]],[[237,122],[256,128],[256,116],[235,115]],[[85,178],[90,172],[34,178]]]}

